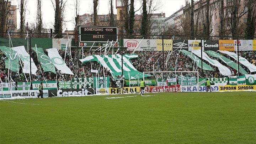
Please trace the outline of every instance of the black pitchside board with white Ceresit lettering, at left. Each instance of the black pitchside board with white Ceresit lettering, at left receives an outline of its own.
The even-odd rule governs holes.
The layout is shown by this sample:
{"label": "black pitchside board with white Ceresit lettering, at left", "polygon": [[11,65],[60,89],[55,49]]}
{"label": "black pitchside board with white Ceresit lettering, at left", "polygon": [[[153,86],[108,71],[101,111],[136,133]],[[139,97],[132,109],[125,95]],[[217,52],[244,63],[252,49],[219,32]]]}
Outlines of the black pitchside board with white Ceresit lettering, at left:
{"label": "black pitchside board with white Ceresit lettering, at left", "polygon": [[49,97],[87,96],[95,94],[94,88],[49,90]]}

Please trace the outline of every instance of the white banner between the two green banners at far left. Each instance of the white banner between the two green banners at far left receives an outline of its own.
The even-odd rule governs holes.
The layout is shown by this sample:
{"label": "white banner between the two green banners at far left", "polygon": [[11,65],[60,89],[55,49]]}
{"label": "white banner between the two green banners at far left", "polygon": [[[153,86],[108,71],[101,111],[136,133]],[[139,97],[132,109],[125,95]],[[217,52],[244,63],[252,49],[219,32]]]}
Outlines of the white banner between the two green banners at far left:
{"label": "white banner between the two green banners at far left", "polygon": [[36,71],[37,71],[36,64],[34,64],[33,59],[30,58],[30,55],[26,52],[25,47],[17,46],[17,47],[13,47],[13,50],[17,51],[21,61],[24,63],[23,73],[30,74],[30,61],[31,61],[31,73],[36,75]]}

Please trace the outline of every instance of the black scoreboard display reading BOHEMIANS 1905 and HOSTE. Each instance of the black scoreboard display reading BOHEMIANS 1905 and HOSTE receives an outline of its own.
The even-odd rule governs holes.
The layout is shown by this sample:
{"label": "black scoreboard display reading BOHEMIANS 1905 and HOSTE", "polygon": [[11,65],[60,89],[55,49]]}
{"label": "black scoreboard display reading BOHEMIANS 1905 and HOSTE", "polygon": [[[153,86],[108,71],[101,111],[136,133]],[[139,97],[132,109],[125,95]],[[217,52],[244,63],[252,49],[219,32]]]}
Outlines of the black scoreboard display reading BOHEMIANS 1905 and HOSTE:
{"label": "black scoreboard display reading BOHEMIANS 1905 and HOSTE", "polygon": [[118,27],[79,26],[80,42],[115,42]]}

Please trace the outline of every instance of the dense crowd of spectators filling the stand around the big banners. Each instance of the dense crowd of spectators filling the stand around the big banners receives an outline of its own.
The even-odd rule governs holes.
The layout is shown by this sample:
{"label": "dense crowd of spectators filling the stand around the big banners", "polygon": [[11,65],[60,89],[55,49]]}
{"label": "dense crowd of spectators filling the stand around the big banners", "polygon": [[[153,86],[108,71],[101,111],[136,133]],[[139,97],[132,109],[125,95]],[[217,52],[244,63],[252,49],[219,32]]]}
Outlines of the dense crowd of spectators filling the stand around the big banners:
{"label": "dense crowd of spectators filling the stand around the big banners", "polygon": [[[47,54],[47,51],[44,51]],[[117,53],[121,54],[122,51],[117,51]],[[116,53],[116,51],[114,52]],[[132,54],[133,51],[124,51],[124,54]],[[18,72],[14,72],[8,69],[5,69],[5,59],[7,57],[4,53],[0,51],[0,78],[1,82],[10,82],[10,81],[57,81],[57,80],[71,80],[72,78],[81,78],[81,77],[103,77],[110,76],[112,77],[110,70],[103,68],[97,62],[88,62],[83,64],[79,61],[79,59],[85,58],[90,55],[102,55],[101,51],[88,51],[88,50],[59,50],[60,56],[65,61],[66,65],[71,69],[74,75],[63,74],[62,71],[56,69],[56,74],[52,72],[44,72],[43,68],[39,64],[37,60],[37,54],[32,50],[31,57],[33,58],[34,63],[37,66],[36,75],[30,75],[22,73],[22,67]],[[112,54],[112,51],[109,51],[107,54]],[[212,66],[214,71],[203,70],[199,67],[196,67],[196,64],[192,59],[187,57],[185,54],[179,51],[169,52],[169,51],[135,51],[134,54],[138,54],[137,58],[130,59],[133,66],[140,72],[143,71],[199,71],[199,75],[201,77],[224,77],[219,73],[217,67]],[[223,53],[220,53],[223,54]],[[235,59],[229,57],[226,54],[223,54],[225,57],[231,59],[236,62]],[[250,63],[255,64],[256,52],[255,51],[240,51],[239,55],[246,58]],[[216,59],[211,57],[212,59]],[[238,75],[237,71],[234,68],[229,67],[222,61],[218,60],[220,63],[228,67],[232,73],[232,75]],[[203,62],[209,64],[207,61]],[[210,65],[210,64],[209,64]],[[251,73],[247,67],[241,65],[248,74],[255,74],[255,72]],[[91,72],[91,69],[98,70],[98,74]],[[241,75],[241,74],[239,74]],[[60,79],[61,77],[61,79]]]}

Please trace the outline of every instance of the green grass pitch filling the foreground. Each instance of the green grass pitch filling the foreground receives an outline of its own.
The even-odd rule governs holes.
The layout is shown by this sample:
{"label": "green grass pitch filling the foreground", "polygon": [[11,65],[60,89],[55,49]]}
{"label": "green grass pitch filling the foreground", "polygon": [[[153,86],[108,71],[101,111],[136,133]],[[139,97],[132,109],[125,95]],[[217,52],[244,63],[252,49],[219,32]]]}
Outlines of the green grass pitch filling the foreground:
{"label": "green grass pitch filling the foreground", "polygon": [[0,143],[256,143],[256,92],[127,96],[0,100]]}

